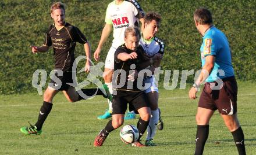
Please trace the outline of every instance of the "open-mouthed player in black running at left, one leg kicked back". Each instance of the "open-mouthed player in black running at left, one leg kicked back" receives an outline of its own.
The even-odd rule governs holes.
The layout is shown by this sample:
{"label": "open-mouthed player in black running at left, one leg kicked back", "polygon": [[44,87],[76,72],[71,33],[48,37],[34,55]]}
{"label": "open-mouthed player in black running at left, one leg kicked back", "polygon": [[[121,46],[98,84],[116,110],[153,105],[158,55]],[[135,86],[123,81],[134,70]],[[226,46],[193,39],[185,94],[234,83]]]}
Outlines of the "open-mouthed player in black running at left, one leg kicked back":
{"label": "open-mouthed player in black running at left, one leg kicked back", "polygon": [[86,51],[87,61],[84,69],[85,72],[90,71],[90,45],[79,28],[66,23],[65,5],[63,3],[56,2],[51,6],[51,17],[54,20],[54,24],[47,31],[44,45],[40,47],[32,46],[32,52],[46,52],[50,46],[53,46],[56,72],[55,76],[51,77],[52,81],[49,83],[47,90],[45,90],[44,102],[40,109],[37,123],[34,126],[30,124],[31,127],[20,128],[20,131],[26,135],[41,134],[42,124],[52,109],[52,99],[59,91],[63,91],[63,94],[65,94],[65,97],[70,102],[86,99],[86,97],[93,97],[94,94],[111,98],[106,86],[104,87],[106,89],[106,92],[104,92],[106,95],[100,89],[91,88],[83,89],[82,91],[86,97],[81,97],[74,87],[67,84],[73,83],[72,66],[76,42],[83,44],[84,50]]}

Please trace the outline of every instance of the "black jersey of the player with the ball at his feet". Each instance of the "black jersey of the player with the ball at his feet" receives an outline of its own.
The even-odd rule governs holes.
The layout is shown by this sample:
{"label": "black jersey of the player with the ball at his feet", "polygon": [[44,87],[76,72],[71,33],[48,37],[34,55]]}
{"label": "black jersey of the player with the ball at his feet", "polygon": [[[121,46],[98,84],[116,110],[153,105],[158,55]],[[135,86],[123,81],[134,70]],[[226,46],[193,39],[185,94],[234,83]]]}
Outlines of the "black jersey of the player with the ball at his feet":
{"label": "black jersey of the player with the ball at his feet", "polygon": [[[145,57],[144,55],[144,50],[143,47],[139,46],[136,50],[136,53],[138,55],[138,57],[136,59],[129,59],[127,61],[122,61],[118,59],[118,54],[120,53],[132,53],[133,51],[127,49],[127,47],[125,45],[121,45],[118,47],[118,49],[116,49],[115,51],[115,62],[114,62],[114,71],[116,72],[116,70],[121,69],[122,71],[115,73],[114,75],[114,81],[113,81],[113,88],[116,90],[140,90],[140,88],[137,87],[137,79],[134,80],[134,82],[128,82],[128,75],[130,70],[135,69],[138,71],[138,65],[140,64],[140,62],[143,61],[147,61],[148,58]],[[131,67],[131,65],[133,65],[133,67]],[[131,69],[132,68],[132,69]],[[125,78],[122,77],[122,72],[125,71],[126,72],[126,76]],[[143,80],[143,77],[138,77],[141,78],[141,80]],[[116,88],[115,86],[119,86],[120,80],[125,80],[125,85],[120,87],[120,88]],[[130,83],[133,83],[132,87],[130,87]],[[129,85],[129,87],[127,87]]]}

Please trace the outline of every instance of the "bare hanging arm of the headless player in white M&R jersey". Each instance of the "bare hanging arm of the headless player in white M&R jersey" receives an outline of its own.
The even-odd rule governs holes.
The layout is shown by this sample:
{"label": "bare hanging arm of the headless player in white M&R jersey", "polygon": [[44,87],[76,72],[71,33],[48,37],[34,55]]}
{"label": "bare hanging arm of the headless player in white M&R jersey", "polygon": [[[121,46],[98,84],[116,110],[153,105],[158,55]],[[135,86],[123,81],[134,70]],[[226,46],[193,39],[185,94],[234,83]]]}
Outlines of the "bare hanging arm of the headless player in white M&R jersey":
{"label": "bare hanging arm of the headless player in white M&R jersey", "polygon": [[96,61],[99,60],[99,54],[101,53],[102,46],[106,42],[106,39],[108,39],[108,36],[111,34],[111,31],[112,31],[112,25],[111,24],[105,24],[105,26],[102,30],[101,40],[99,40],[98,47],[94,51],[94,59]]}

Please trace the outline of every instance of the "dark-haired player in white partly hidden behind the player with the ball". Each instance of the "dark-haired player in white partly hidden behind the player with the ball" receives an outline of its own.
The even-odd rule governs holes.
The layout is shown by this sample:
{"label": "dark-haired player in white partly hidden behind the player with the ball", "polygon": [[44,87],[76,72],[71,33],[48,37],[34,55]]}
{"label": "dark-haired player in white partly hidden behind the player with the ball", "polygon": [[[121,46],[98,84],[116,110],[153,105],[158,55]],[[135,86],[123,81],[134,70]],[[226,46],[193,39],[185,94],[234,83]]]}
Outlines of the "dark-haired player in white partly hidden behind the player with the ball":
{"label": "dark-haired player in white partly hidden behind the player with the ball", "polygon": [[[144,17],[144,29],[142,31],[142,37],[140,39],[140,45],[143,47],[145,53],[148,56],[155,56],[158,55],[162,59],[163,51],[165,48],[164,43],[157,38],[155,35],[158,32],[159,25],[161,23],[161,16],[158,13],[150,12],[147,13]],[[157,66],[149,68],[152,72]],[[147,128],[147,138],[145,145],[146,146],[155,146],[153,138],[155,136],[155,132],[157,129],[157,124],[159,123],[159,130],[162,130],[163,123],[162,120],[159,119],[159,109],[158,109],[158,86],[155,84],[155,77],[146,76],[143,81],[145,84],[149,83],[150,87],[145,90],[147,94],[148,101],[150,101],[150,108],[151,108],[151,117],[150,123],[148,124]]]}

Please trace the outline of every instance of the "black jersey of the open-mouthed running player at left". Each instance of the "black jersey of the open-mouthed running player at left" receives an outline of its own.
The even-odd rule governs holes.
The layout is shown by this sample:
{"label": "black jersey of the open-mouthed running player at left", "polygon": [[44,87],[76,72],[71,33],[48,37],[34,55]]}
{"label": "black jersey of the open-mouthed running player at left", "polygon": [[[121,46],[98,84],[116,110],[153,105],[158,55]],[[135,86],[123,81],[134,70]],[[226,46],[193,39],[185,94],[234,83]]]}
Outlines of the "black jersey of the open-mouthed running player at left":
{"label": "black jersey of the open-mouthed running player at left", "polygon": [[52,24],[46,34],[44,45],[54,47],[55,69],[67,71],[72,68],[76,42],[85,44],[86,37],[79,28],[69,23],[59,30]]}

